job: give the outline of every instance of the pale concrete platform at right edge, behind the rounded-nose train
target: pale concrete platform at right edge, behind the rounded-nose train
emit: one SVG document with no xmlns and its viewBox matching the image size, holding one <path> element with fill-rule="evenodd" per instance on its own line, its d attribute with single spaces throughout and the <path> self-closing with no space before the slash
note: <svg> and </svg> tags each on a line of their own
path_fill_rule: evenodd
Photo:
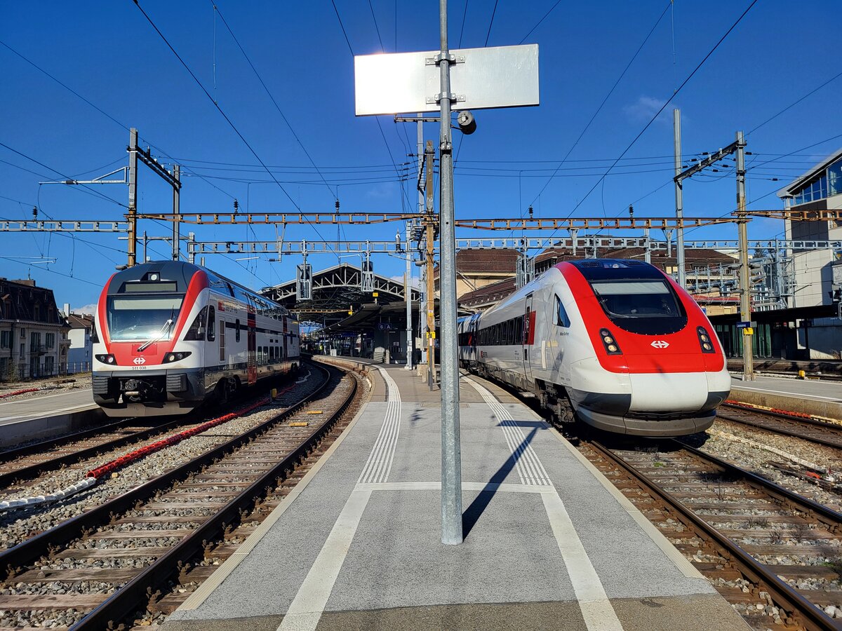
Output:
<svg viewBox="0 0 842 631">
<path fill-rule="evenodd" d="M 838 381 L 766 376 L 743 381 L 733 377 L 730 398 L 842 420 L 842 384 Z"/>
</svg>

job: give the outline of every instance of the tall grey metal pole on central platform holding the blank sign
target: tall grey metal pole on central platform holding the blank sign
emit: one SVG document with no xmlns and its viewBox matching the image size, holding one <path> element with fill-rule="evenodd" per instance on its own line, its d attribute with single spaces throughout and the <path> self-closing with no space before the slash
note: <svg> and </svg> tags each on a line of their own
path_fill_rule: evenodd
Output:
<svg viewBox="0 0 842 631">
<path fill-rule="evenodd" d="M 453 210 L 453 142 L 450 137 L 450 51 L 447 0 L 439 0 L 441 54 L 439 144 L 441 337 L 441 543 L 461 544 L 462 475 L 459 445 L 459 367 L 456 365 L 456 231 Z"/>
</svg>

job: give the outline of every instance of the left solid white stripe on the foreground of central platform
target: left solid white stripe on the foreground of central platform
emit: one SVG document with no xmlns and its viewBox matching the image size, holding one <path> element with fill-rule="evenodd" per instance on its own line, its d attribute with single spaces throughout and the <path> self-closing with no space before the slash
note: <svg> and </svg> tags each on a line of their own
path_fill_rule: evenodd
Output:
<svg viewBox="0 0 842 631">
<path fill-rule="evenodd" d="M 316 557 L 306 579 L 298 588 L 278 631 L 314 631 L 328 604 L 333 584 L 345 562 L 354 534 L 360 525 L 371 496 L 370 490 L 353 490 L 339 518 L 333 524 L 328 540 Z"/>
</svg>

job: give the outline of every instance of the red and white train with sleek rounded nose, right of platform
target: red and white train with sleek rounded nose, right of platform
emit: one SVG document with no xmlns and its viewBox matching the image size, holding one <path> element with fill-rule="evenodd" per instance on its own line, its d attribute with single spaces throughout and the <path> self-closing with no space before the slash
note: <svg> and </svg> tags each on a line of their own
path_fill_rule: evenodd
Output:
<svg viewBox="0 0 842 631">
<path fill-rule="evenodd" d="M 609 432 L 701 432 L 731 390 L 706 315 L 642 261 L 559 263 L 492 309 L 462 318 L 459 334 L 463 367 Z"/>
</svg>

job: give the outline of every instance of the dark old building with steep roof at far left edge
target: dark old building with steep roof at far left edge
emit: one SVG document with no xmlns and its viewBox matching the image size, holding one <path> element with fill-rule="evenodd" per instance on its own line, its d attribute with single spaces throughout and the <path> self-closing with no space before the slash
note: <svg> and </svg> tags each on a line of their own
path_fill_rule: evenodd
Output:
<svg viewBox="0 0 842 631">
<path fill-rule="evenodd" d="M 0 278 L 0 380 L 59 374 L 67 363 L 68 330 L 52 289 Z"/>
</svg>

